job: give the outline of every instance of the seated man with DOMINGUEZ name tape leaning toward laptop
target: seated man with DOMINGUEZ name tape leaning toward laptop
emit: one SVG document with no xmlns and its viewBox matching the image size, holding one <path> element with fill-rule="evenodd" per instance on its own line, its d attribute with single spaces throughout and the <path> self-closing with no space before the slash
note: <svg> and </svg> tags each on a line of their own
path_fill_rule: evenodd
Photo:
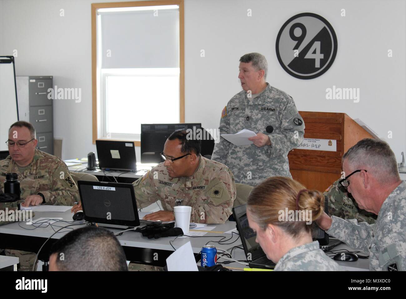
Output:
<svg viewBox="0 0 406 299">
<path fill-rule="evenodd" d="M 145 220 L 175 220 L 173 207 L 192 207 L 190 222 L 225 223 L 232 214 L 235 181 L 231 170 L 200 155 L 201 142 L 175 131 L 164 145 L 164 162 L 133 183 L 138 207 L 160 201 L 163 211 L 148 214 Z M 73 212 L 81 205 L 72 208 Z M 130 270 L 160 270 L 159 267 L 131 263 Z"/>
</svg>

